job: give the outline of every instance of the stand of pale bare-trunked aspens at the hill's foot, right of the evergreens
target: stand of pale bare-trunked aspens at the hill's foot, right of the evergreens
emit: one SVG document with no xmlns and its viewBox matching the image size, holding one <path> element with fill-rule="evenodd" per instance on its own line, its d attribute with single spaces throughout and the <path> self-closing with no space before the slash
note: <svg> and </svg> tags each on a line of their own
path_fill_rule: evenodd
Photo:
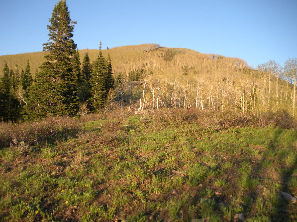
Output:
<svg viewBox="0 0 297 222">
<path fill-rule="evenodd" d="M 219 68 L 191 76 L 187 71 L 168 77 L 143 69 L 116 73 L 117 105 L 130 106 L 131 100 L 138 100 L 134 105 L 138 110 L 166 107 L 245 113 L 284 109 L 295 115 L 296 68 L 297 58 L 290 58 L 283 67 L 273 60 L 256 70 L 243 67 L 240 76 Z M 141 94 L 133 90 L 134 81 Z"/>
</svg>

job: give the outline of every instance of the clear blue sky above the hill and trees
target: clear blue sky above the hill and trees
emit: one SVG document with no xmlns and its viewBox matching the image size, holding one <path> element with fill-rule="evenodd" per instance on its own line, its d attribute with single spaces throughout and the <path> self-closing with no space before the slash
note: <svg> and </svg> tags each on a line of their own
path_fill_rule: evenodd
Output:
<svg viewBox="0 0 297 222">
<path fill-rule="evenodd" d="M 42 51 L 57 0 L 0 7 L 0 55 Z M 251 66 L 297 57 L 297 0 L 68 0 L 78 49 L 157 43 L 238 57 Z"/>
</svg>

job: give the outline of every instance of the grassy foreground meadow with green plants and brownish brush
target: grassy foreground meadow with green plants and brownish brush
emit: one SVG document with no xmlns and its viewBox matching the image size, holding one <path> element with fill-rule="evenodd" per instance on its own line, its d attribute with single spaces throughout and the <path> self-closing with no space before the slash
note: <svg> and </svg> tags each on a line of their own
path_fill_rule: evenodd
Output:
<svg viewBox="0 0 297 222">
<path fill-rule="evenodd" d="M 0 219 L 295 221 L 296 127 L 194 109 L 2 123 Z"/>
</svg>

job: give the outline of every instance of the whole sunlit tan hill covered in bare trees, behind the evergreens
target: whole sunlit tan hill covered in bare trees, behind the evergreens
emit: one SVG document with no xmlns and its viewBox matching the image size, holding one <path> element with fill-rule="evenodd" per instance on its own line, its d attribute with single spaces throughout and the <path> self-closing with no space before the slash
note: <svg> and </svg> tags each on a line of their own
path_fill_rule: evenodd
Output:
<svg viewBox="0 0 297 222">
<path fill-rule="evenodd" d="M 27 59 L 31 70 L 44 61 L 44 52 L 0 56 L 12 68 L 24 69 Z M 82 61 L 84 50 L 79 51 Z M 90 61 L 98 50 L 88 50 Z M 201 110 L 254 111 L 286 109 L 292 111 L 292 86 L 271 73 L 249 69 L 239 58 L 202 54 L 189 49 L 160 47 L 157 44 L 116 47 L 103 50 L 110 54 L 115 78 L 124 78 L 117 85 L 113 101 L 121 97 L 124 105 L 143 108 L 183 107 Z M 141 74 L 138 84 L 132 84 L 132 73 Z M 137 86 L 137 87 L 134 87 Z M 142 89 L 141 89 L 142 88 Z M 122 99 L 123 98 L 123 99 Z M 119 101 L 118 101 L 119 105 Z"/>
</svg>

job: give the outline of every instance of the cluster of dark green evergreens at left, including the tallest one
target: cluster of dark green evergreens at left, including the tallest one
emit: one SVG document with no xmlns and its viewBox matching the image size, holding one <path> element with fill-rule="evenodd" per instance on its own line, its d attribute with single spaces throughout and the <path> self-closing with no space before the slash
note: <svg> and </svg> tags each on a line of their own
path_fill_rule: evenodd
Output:
<svg viewBox="0 0 297 222">
<path fill-rule="evenodd" d="M 100 51 L 90 64 L 86 50 L 82 64 L 66 1 L 55 5 L 49 20 L 49 42 L 43 44 L 46 61 L 33 81 L 29 61 L 25 72 L 9 71 L 7 63 L 0 82 L 0 118 L 3 121 L 32 120 L 52 115 L 73 116 L 104 107 L 114 87 L 110 56 Z M 82 66 L 81 66 L 82 65 Z"/>
</svg>

